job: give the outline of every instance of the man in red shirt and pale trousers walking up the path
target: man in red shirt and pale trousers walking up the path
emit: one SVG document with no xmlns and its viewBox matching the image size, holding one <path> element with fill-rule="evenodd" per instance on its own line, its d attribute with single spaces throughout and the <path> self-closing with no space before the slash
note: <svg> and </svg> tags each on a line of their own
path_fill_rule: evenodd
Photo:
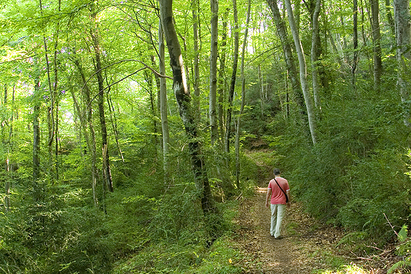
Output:
<svg viewBox="0 0 411 274">
<path fill-rule="evenodd" d="M 271 206 L 270 234 L 275 239 L 282 239 L 281 224 L 287 208 L 290 207 L 290 187 L 288 181 L 281 177 L 279 169 L 274 169 L 274 179 L 271 179 L 267 187 L 266 208 Z"/>
</svg>

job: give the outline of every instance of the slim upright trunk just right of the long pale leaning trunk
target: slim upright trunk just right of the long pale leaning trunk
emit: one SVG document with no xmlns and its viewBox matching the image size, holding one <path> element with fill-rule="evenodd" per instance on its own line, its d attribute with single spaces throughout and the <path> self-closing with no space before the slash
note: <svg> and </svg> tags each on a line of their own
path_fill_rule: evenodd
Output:
<svg viewBox="0 0 411 274">
<path fill-rule="evenodd" d="M 321 109 L 319 69 L 317 66 L 319 39 L 319 14 L 321 10 L 321 0 L 316 0 L 315 9 L 312 14 L 312 42 L 311 42 L 311 67 L 312 67 L 312 93 L 314 94 L 314 104 L 317 112 Z"/>
</svg>

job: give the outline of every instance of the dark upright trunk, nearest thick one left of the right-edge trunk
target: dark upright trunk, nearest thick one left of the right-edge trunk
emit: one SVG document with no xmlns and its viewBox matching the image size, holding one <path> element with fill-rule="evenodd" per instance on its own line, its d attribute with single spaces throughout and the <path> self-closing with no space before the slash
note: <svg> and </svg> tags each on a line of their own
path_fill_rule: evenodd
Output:
<svg viewBox="0 0 411 274">
<path fill-rule="evenodd" d="M 379 29 L 379 0 L 371 1 L 371 14 L 373 25 L 373 52 L 374 52 L 374 90 L 380 91 L 382 60 L 381 60 L 381 32 Z"/>
</svg>

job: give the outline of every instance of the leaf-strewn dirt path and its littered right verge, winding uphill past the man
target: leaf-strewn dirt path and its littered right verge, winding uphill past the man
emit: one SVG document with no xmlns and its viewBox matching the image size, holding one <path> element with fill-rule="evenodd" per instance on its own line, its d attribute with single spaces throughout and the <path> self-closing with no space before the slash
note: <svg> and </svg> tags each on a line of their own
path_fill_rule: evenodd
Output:
<svg viewBox="0 0 411 274">
<path fill-rule="evenodd" d="M 233 246 L 244 256 L 238 261 L 243 273 L 385 274 L 407 270 L 410 242 L 406 227 L 395 231 L 386 219 L 392 240 L 375 242 L 371 232 L 356 232 L 311 216 L 303 200 L 295 197 L 283 223 L 284 238 L 269 234 L 270 210 L 265 208 L 271 168 L 267 151 L 249 151 L 259 166 L 259 179 L 251 197 L 241 197 Z M 291 180 L 292 181 L 292 180 Z M 290 182 L 292 189 L 292 182 Z M 401 235 L 402 233 L 402 235 Z M 241 256 L 240 256 L 241 258 Z M 402 271 L 402 272 L 401 272 Z M 408 272 L 407 272 L 408 271 Z"/>
</svg>

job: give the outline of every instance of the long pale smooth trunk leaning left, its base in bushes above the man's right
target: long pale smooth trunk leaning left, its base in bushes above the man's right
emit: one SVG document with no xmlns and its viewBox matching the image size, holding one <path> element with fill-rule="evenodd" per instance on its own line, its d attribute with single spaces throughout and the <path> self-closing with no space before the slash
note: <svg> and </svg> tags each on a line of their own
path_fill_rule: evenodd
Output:
<svg viewBox="0 0 411 274">
<path fill-rule="evenodd" d="M 290 23 L 290 29 L 292 32 L 292 37 L 294 38 L 295 48 L 297 49 L 297 55 L 299 60 L 299 71 L 300 71 L 300 82 L 301 88 L 303 90 L 304 100 L 306 101 L 307 114 L 308 114 L 308 125 L 310 126 L 312 143 L 316 144 L 316 119 L 314 105 L 312 104 L 312 99 L 310 91 L 308 90 L 307 81 L 307 66 L 306 58 L 304 57 L 303 47 L 301 45 L 301 40 L 299 38 L 298 29 L 295 25 L 294 15 L 292 14 L 292 6 L 290 0 L 286 0 L 286 8 L 288 14 L 288 22 Z"/>
</svg>

